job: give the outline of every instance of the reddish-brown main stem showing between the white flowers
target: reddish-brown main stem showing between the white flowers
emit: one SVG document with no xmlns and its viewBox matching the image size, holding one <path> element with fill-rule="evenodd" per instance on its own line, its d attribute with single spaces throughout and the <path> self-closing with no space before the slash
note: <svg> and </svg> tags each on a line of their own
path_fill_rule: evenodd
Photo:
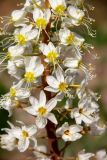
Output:
<svg viewBox="0 0 107 160">
<path fill-rule="evenodd" d="M 45 8 L 49 8 L 48 0 L 45 0 Z M 51 25 L 51 22 L 46 27 L 47 33 L 50 32 L 50 25 Z M 47 36 L 46 32 L 43 31 L 43 38 L 44 38 L 43 42 L 48 44 L 49 37 Z M 44 59 L 43 59 L 43 63 L 45 65 Z M 49 66 L 46 65 L 45 72 L 44 72 L 44 75 L 42 78 L 42 82 L 43 82 L 44 87 L 47 86 L 46 76 L 48 76 L 49 73 L 50 73 Z M 46 92 L 46 96 L 47 96 L 48 100 L 51 99 L 51 93 Z M 60 151 L 58 149 L 58 142 L 57 142 L 57 137 L 55 134 L 56 127 L 52 122 L 48 121 L 48 123 L 46 125 L 46 130 L 47 130 L 47 136 L 48 136 L 48 144 L 49 144 L 50 153 L 51 153 L 51 159 L 52 160 L 59 160 Z"/>
</svg>

